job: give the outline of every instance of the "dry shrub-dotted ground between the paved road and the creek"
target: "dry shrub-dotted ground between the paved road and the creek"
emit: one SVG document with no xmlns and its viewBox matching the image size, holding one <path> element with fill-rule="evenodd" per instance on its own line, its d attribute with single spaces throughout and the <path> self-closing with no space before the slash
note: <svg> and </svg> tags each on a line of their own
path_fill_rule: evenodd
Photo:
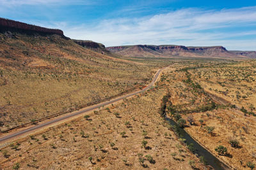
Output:
<svg viewBox="0 0 256 170">
<path fill-rule="evenodd" d="M 6 159 L 1 155 L 0 166 L 12 169 L 19 163 L 21 169 L 144 169 L 144 164 L 150 169 L 192 169 L 189 160 L 193 160 L 193 166 L 203 169 L 157 113 L 165 94 L 166 89 L 152 89 L 87 114 L 90 117 L 20 139 L 18 150 L 12 146 L 2 149 L 10 156 Z M 147 141 L 146 147 L 142 141 Z M 145 159 L 143 164 L 141 159 Z"/>
</svg>

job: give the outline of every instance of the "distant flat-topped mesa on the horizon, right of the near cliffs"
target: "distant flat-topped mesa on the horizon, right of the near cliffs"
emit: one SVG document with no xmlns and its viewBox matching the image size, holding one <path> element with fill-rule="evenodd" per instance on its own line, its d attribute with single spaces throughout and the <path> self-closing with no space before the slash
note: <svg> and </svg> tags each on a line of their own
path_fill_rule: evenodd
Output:
<svg viewBox="0 0 256 170">
<path fill-rule="evenodd" d="M 196 58 L 253 58 L 255 53 L 234 53 L 223 46 L 181 46 L 181 45 L 133 45 L 110 46 L 110 52 L 124 55 L 125 57 L 196 57 Z"/>
</svg>

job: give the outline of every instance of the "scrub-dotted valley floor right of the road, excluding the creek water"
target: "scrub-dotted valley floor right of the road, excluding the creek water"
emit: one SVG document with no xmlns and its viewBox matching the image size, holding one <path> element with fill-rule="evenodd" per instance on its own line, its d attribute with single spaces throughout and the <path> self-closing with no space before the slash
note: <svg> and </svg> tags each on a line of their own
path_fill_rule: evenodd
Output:
<svg viewBox="0 0 256 170">
<path fill-rule="evenodd" d="M 143 94 L 5 146 L 1 149 L 0 166 L 2 169 L 209 168 L 203 164 L 204 159 L 193 154 L 195 148 L 184 143 L 175 127 L 164 121 L 161 114 L 166 113 L 230 167 L 250 169 L 256 163 L 252 107 L 255 92 L 250 90 L 255 87 L 252 73 L 256 70 L 255 61 L 246 62 L 252 72 L 243 73 L 245 79 L 234 82 L 219 74 L 239 79 L 245 62 L 176 62 L 163 71 L 154 88 Z M 227 67 L 234 72 L 226 74 Z M 225 78 L 225 83 L 221 78 Z M 234 96 L 235 87 L 228 87 L 232 82 L 238 91 L 235 93 L 246 97 Z M 223 94 L 218 85 L 227 87 L 227 93 Z M 217 98 L 212 98 L 210 92 Z M 218 97 L 223 97 L 225 103 L 218 101 Z M 232 140 L 239 145 L 232 147 Z M 216 152 L 218 146 L 227 148 L 227 153 Z"/>
</svg>

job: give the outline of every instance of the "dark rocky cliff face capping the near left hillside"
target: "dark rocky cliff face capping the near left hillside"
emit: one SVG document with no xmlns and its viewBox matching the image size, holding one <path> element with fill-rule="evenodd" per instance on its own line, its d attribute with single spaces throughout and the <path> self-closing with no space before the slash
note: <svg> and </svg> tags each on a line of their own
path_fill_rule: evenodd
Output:
<svg viewBox="0 0 256 170">
<path fill-rule="evenodd" d="M 66 38 L 63 34 L 63 31 L 61 31 L 60 29 L 47 29 L 44 27 L 30 25 L 23 22 L 8 20 L 5 18 L 0 18 L 0 31 L 21 32 L 26 34 L 57 34 L 63 38 Z"/>
</svg>

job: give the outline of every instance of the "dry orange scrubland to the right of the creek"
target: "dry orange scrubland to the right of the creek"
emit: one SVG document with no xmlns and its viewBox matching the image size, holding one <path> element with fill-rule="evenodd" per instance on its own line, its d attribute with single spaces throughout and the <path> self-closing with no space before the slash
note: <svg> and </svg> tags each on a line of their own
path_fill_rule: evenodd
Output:
<svg viewBox="0 0 256 170">
<path fill-rule="evenodd" d="M 253 168 L 255 60 L 176 67 L 159 81 L 170 91 L 167 115 L 230 167 Z"/>
</svg>

